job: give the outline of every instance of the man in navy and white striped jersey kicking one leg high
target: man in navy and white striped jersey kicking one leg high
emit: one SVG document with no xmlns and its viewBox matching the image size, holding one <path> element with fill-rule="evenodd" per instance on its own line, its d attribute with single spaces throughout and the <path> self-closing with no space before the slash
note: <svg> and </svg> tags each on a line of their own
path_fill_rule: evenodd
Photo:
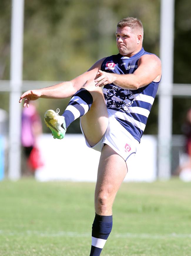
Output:
<svg viewBox="0 0 191 256">
<path fill-rule="evenodd" d="M 100 255 L 111 232 L 113 201 L 140 143 L 161 79 L 160 59 L 142 47 L 139 19 L 118 22 L 116 42 L 117 55 L 97 61 L 71 81 L 29 90 L 19 100 L 28 107 L 30 100 L 72 96 L 63 115 L 46 111 L 46 125 L 54 138 L 62 139 L 67 127 L 81 117 L 87 146 L 101 152 L 90 256 Z"/>
</svg>

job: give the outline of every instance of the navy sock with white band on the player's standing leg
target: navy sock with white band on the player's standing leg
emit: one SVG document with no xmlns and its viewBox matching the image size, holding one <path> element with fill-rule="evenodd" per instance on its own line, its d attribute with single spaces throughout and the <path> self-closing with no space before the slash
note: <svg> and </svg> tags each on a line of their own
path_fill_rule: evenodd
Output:
<svg viewBox="0 0 191 256">
<path fill-rule="evenodd" d="M 92 225 L 92 246 L 90 256 L 99 256 L 112 229 L 112 215 L 96 214 Z"/>
</svg>

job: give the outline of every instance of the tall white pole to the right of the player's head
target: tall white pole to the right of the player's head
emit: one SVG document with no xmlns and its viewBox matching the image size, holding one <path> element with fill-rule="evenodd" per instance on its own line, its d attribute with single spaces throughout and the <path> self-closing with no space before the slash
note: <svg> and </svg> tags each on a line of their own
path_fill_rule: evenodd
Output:
<svg viewBox="0 0 191 256">
<path fill-rule="evenodd" d="M 161 0 L 160 59 L 162 81 L 158 117 L 158 177 L 171 176 L 172 85 L 174 53 L 174 0 Z"/>
</svg>

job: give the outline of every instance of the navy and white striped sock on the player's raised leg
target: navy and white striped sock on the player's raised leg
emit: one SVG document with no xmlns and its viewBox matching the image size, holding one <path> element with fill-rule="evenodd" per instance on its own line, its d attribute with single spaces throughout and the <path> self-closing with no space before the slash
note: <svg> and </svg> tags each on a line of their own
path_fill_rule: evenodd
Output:
<svg viewBox="0 0 191 256">
<path fill-rule="evenodd" d="M 85 115 L 93 103 L 93 97 L 86 89 L 81 88 L 72 97 L 63 116 L 66 128 L 78 117 Z"/>
</svg>

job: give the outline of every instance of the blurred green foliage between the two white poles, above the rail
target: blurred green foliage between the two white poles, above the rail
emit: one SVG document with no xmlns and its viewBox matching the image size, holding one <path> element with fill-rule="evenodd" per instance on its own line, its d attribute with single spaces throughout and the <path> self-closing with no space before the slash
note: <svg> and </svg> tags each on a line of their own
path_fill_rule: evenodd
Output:
<svg viewBox="0 0 191 256">
<path fill-rule="evenodd" d="M 143 20 L 145 47 L 158 53 L 159 9 L 151 0 L 26 1 L 24 80 L 68 80 L 117 53 L 116 23 L 127 16 Z"/>
</svg>

